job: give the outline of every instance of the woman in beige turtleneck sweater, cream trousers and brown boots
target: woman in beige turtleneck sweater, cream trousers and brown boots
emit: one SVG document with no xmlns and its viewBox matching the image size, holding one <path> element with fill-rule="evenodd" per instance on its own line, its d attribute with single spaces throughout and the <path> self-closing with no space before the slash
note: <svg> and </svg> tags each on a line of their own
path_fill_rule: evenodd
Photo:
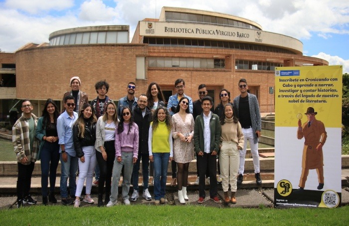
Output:
<svg viewBox="0 0 349 226">
<path fill-rule="evenodd" d="M 244 135 L 241 125 L 234 114 L 233 106 L 228 103 L 224 105 L 224 114 L 220 117 L 222 132 L 220 136 L 221 148 L 219 152 L 220 173 L 222 177 L 222 188 L 224 192 L 224 203 L 236 204 L 235 192 L 237 189 L 237 175 L 239 170 L 239 150 L 244 146 Z M 228 189 L 230 184 L 231 199 Z"/>
</svg>

